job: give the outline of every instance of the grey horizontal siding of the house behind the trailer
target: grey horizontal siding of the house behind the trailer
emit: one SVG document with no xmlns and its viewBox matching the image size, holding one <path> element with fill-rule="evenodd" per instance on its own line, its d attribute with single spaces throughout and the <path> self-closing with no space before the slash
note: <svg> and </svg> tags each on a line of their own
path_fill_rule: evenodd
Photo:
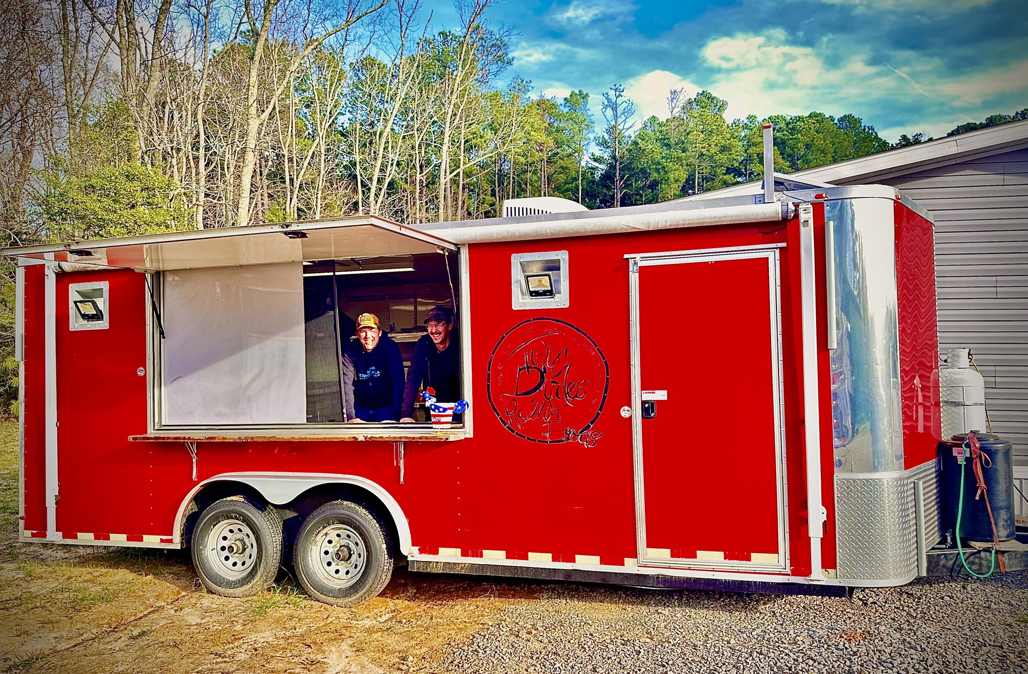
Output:
<svg viewBox="0 0 1028 674">
<path fill-rule="evenodd" d="M 970 348 L 993 432 L 1028 462 L 1028 149 L 882 182 L 931 212 L 940 351 Z"/>
</svg>

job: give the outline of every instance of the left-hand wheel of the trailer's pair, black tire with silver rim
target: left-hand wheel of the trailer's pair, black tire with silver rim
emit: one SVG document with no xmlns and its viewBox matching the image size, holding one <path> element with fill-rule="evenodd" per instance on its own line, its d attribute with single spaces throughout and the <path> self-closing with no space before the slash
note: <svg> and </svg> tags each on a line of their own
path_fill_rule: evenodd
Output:
<svg viewBox="0 0 1028 674">
<path fill-rule="evenodd" d="M 208 590 L 249 597 L 274 580 L 282 564 L 282 520 L 246 496 L 229 496 L 204 510 L 192 534 L 192 561 Z"/>
</svg>

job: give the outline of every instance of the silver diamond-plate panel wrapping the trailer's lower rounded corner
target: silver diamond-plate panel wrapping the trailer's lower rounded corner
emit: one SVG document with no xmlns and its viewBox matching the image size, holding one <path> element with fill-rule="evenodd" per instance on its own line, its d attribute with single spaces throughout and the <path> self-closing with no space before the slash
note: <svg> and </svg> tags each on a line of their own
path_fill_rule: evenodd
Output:
<svg viewBox="0 0 1028 674">
<path fill-rule="evenodd" d="M 914 483 L 904 474 L 836 475 L 839 577 L 906 582 L 917 576 Z"/>
</svg>

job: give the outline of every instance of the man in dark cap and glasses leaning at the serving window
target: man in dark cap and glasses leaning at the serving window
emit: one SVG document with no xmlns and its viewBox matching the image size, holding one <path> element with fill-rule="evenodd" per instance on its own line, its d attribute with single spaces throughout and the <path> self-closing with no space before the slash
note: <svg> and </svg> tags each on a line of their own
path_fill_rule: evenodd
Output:
<svg viewBox="0 0 1028 674">
<path fill-rule="evenodd" d="M 400 421 L 414 421 L 414 399 L 420 388 L 432 387 L 436 400 L 456 402 L 461 398 L 461 344 L 453 331 L 453 310 L 433 307 L 425 319 L 429 333 L 414 345 L 403 389 Z M 453 416 L 460 423 L 460 415 Z"/>
</svg>

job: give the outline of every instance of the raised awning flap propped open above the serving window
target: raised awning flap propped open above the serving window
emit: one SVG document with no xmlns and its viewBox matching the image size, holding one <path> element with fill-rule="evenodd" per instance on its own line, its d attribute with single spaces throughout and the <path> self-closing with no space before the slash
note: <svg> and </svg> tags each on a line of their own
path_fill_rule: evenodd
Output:
<svg viewBox="0 0 1028 674">
<path fill-rule="evenodd" d="M 52 254 L 59 262 L 167 272 L 455 249 L 453 243 L 431 234 L 377 217 L 355 216 L 19 246 L 0 252 L 36 259 L 51 259 Z"/>
</svg>

